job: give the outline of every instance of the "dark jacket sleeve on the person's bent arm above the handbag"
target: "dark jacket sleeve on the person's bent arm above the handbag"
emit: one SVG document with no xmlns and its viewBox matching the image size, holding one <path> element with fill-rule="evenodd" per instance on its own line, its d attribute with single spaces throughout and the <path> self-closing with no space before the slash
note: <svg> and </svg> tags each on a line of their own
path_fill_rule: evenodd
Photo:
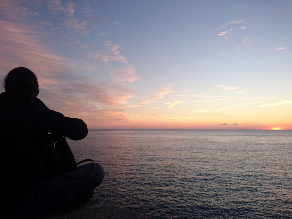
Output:
<svg viewBox="0 0 292 219">
<path fill-rule="evenodd" d="M 33 101 L 30 107 L 33 128 L 58 133 L 71 140 L 81 140 L 88 129 L 82 119 L 65 117 L 62 113 L 46 107 L 41 101 Z"/>
</svg>

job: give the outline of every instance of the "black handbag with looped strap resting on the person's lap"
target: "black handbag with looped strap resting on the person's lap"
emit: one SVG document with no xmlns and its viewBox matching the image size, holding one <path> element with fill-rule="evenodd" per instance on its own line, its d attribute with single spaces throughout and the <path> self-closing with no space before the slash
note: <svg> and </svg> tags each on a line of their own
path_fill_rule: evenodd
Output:
<svg viewBox="0 0 292 219">
<path fill-rule="evenodd" d="M 78 164 L 86 161 L 91 161 L 93 163 L 92 169 L 89 173 L 80 177 L 70 177 L 65 174 L 76 170 Z M 85 178 L 93 172 L 94 161 L 91 159 L 84 159 L 76 163 L 66 138 L 62 135 L 51 133 L 46 136 L 41 150 L 41 166 L 44 178 L 46 179 L 63 175 L 66 178 L 77 180 Z"/>
</svg>

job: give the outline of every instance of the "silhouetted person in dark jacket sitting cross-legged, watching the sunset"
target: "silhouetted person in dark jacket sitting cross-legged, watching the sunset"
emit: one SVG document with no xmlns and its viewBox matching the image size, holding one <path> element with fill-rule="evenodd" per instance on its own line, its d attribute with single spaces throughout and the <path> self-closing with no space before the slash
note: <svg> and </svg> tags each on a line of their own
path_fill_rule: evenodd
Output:
<svg viewBox="0 0 292 219">
<path fill-rule="evenodd" d="M 4 78 L 4 88 L 6 92 L 0 94 L 1 216 L 31 218 L 88 201 L 102 182 L 102 166 L 95 164 L 94 171 L 79 180 L 62 175 L 45 180 L 35 154 L 47 133 L 80 140 L 87 135 L 86 124 L 64 117 L 36 98 L 36 75 L 25 67 L 12 69 Z M 82 176 L 91 168 L 92 164 L 85 164 L 67 175 Z"/>
</svg>

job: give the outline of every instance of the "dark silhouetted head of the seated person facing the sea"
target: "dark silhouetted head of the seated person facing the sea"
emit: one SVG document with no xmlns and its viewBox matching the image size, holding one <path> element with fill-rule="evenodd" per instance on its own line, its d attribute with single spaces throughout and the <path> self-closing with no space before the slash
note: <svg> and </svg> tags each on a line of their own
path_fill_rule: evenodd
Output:
<svg viewBox="0 0 292 219">
<path fill-rule="evenodd" d="M 12 69 L 4 78 L 4 89 L 13 93 L 21 104 L 32 101 L 39 94 L 36 75 L 25 67 Z"/>
</svg>

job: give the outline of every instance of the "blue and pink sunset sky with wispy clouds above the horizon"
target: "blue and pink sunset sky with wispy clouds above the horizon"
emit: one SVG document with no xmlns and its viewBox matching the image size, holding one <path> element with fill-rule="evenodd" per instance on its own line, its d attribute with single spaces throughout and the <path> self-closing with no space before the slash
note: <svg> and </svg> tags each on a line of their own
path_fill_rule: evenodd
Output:
<svg viewBox="0 0 292 219">
<path fill-rule="evenodd" d="M 292 1 L 0 1 L 0 76 L 88 128 L 292 129 Z M 4 88 L 1 88 L 1 92 Z"/>
</svg>

